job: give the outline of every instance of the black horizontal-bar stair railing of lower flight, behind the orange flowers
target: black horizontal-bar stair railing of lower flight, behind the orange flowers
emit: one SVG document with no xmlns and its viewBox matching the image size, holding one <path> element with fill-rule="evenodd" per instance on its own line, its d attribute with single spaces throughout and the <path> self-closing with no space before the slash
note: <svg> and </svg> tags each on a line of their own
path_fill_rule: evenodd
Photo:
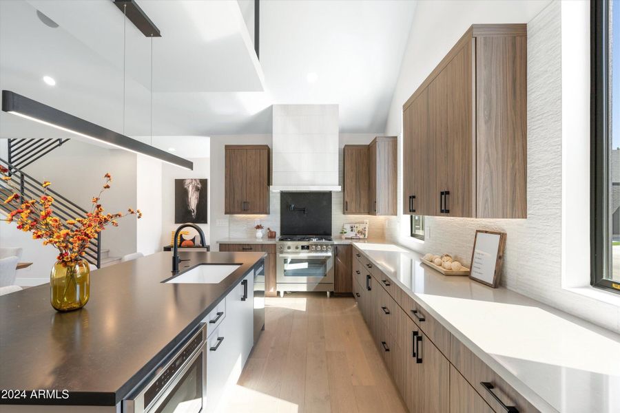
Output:
<svg viewBox="0 0 620 413">
<path fill-rule="evenodd" d="M 28 173 L 23 172 L 1 158 L 0 165 L 9 170 L 8 176 L 11 177 L 11 182 L 13 182 L 14 186 L 19 188 L 19 195 L 22 199 L 38 199 L 43 195 L 45 191 L 42 186 L 43 182 L 32 178 Z M 70 229 L 70 226 L 65 223 L 67 220 L 83 217 L 89 212 L 49 187 L 46 192 L 54 198 L 54 214 L 63 221 L 63 225 L 67 229 Z M 6 199 L 11 193 L 12 189 L 8 181 L 0 180 L 0 195 L 2 195 L 2 198 Z M 0 200 L 0 209 L 10 213 L 17 209 L 17 204 L 5 204 Z M 90 264 L 101 268 L 101 233 L 97 234 L 95 239 L 90 240 L 86 247 L 84 258 Z"/>
</svg>

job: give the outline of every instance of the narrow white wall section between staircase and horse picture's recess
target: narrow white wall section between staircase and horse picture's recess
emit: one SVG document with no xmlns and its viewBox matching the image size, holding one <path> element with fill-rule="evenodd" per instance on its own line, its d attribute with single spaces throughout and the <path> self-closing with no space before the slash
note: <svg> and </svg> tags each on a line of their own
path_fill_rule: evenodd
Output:
<svg viewBox="0 0 620 413">
<path fill-rule="evenodd" d="M 143 213 L 136 228 L 136 251 L 149 255 L 161 251 L 162 208 L 169 198 L 162 196 L 163 162 L 143 155 L 136 161 L 136 208 Z"/>
</svg>

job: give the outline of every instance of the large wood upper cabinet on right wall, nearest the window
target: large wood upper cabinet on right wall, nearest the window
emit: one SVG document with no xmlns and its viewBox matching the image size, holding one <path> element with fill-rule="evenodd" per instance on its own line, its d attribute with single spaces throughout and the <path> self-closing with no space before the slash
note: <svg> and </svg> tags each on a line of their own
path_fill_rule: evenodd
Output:
<svg viewBox="0 0 620 413">
<path fill-rule="evenodd" d="M 471 26 L 404 104 L 404 213 L 526 218 L 526 35 Z"/>
</svg>

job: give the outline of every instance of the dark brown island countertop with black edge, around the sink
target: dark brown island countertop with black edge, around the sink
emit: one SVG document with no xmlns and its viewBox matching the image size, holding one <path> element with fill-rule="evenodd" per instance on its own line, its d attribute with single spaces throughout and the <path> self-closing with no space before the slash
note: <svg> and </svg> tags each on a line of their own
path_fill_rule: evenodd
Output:
<svg viewBox="0 0 620 413">
<path fill-rule="evenodd" d="M 68 390 L 68 399 L 0 404 L 116 405 L 192 332 L 265 253 L 179 253 L 180 272 L 241 264 L 219 284 L 165 284 L 172 253 L 91 274 L 84 308 L 59 313 L 48 284 L 0 297 L 0 390 Z"/>
</svg>

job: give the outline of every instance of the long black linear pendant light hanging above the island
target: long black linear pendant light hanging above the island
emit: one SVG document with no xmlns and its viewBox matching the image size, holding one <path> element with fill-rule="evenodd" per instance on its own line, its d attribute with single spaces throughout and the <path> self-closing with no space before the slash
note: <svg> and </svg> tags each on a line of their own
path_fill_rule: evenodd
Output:
<svg viewBox="0 0 620 413">
<path fill-rule="evenodd" d="M 98 140 L 120 149 L 141 153 L 151 158 L 156 158 L 178 167 L 194 169 L 194 163 L 172 153 L 162 151 L 144 142 L 130 138 L 129 136 L 118 134 L 105 127 L 95 125 L 87 120 L 78 118 L 54 107 L 37 102 L 21 94 L 2 91 L 2 110 L 10 114 L 21 116 L 22 118 L 34 120 L 43 125 L 49 125 L 62 131 Z"/>
</svg>

